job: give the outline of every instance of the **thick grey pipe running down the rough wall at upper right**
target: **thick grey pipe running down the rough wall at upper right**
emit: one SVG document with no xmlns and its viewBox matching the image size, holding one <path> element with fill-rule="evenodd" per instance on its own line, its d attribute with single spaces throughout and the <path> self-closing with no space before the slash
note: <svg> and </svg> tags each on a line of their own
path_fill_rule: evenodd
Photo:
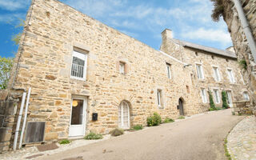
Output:
<svg viewBox="0 0 256 160">
<path fill-rule="evenodd" d="M 243 31 L 246 34 L 246 38 L 250 47 L 250 51 L 253 54 L 254 62 L 256 62 L 256 44 L 254 42 L 253 34 L 250 31 L 250 26 L 247 22 L 247 18 L 245 13 L 243 12 L 241 2 L 239 0 L 233 0 L 234 6 L 238 10 L 238 17 L 240 18 L 240 21 L 242 23 Z"/>
</svg>

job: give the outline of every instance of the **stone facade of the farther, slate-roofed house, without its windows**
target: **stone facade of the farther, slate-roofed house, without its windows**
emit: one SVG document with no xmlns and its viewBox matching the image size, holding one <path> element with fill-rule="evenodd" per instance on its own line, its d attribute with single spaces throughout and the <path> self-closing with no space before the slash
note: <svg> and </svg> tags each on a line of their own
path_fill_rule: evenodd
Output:
<svg viewBox="0 0 256 160">
<path fill-rule="evenodd" d="M 200 90 L 202 88 L 211 91 L 213 91 L 214 89 L 218 89 L 221 98 L 222 90 L 230 90 L 233 102 L 243 101 L 242 93 L 246 91 L 246 85 L 242 78 L 241 66 L 239 66 L 236 58 L 219 56 L 217 54 L 203 52 L 202 50 L 195 50 L 193 48 L 183 47 L 174 43 L 172 41 L 172 38 L 166 36 L 166 34 L 163 34 L 162 36 L 163 38 L 161 50 L 166 52 L 167 54 L 174 56 L 175 58 L 179 58 L 179 60 L 181 60 L 182 62 L 191 65 L 187 67 L 190 68 L 189 70 L 192 73 L 195 88 L 194 91 L 200 94 Z M 195 66 L 196 63 L 202 63 L 203 73 L 205 77 L 203 80 L 198 79 Z M 214 80 L 213 66 L 217 66 L 219 69 L 221 77 L 220 82 L 216 82 Z M 234 83 L 230 82 L 227 74 L 228 68 L 232 69 L 234 72 Z M 208 94 L 207 99 L 209 102 Z M 206 106 L 209 106 L 209 103 L 202 103 L 202 98 L 198 98 L 198 100 L 200 103 L 199 106 L 201 106 L 202 109 L 206 109 Z M 218 104 L 215 103 L 215 106 L 222 107 L 222 100 Z"/>
</svg>

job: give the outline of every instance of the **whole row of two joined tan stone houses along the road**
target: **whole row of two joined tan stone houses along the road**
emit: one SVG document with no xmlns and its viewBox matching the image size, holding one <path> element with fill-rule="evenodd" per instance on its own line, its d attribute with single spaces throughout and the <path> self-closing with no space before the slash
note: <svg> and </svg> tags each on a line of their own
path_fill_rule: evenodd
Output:
<svg viewBox="0 0 256 160">
<path fill-rule="evenodd" d="M 246 94 L 230 50 L 179 41 L 171 30 L 154 50 L 56 0 L 32 2 L 9 87 L 32 88 L 26 133 L 44 122 L 44 142 L 146 125 L 154 112 L 202 113 L 208 90 L 220 107 L 222 90 L 230 107 Z"/>
</svg>

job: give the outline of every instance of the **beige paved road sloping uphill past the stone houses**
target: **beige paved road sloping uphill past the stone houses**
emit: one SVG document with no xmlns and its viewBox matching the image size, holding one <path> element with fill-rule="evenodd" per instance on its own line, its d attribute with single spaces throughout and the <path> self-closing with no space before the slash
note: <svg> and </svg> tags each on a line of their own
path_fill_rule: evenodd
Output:
<svg viewBox="0 0 256 160">
<path fill-rule="evenodd" d="M 41 159 L 225 160 L 223 139 L 242 118 L 230 110 L 210 112 Z"/>
</svg>

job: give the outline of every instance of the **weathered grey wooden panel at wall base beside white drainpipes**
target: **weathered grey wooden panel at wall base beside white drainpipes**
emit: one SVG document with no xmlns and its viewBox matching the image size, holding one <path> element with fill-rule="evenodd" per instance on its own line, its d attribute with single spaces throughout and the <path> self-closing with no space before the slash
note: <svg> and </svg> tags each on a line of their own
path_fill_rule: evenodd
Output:
<svg viewBox="0 0 256 160">
<path fill-rule="evenodd" d="M 45 134 L 46 122 L 28 122 L 25 143 L 42 142 Z"/>
</svg>

